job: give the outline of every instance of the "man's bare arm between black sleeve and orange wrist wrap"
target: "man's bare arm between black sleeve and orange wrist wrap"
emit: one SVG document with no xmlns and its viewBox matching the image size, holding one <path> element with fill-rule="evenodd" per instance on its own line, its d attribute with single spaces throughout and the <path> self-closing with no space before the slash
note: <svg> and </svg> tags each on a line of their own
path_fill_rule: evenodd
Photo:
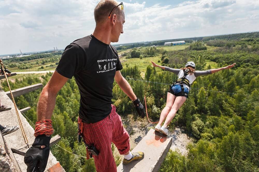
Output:
<svg viewBox="0 0 259 172">
<path fill-rule="evenodd" d="M 37 106 L 38 121 L 51 119 L 55 104 L 56 96 L 59 90 L 67 82 L 68 78 L 60 75 L 55 71 L 49 82 L 42 89 Z"/>
</svg>

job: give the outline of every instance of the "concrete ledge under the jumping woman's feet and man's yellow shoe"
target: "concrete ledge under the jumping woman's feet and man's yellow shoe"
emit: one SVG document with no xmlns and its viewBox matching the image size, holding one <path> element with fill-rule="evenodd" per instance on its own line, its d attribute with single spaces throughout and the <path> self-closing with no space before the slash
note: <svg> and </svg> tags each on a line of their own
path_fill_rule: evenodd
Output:
<svg viewBox="0 0 259 172">
<path fill-rule="evenodd" d="M 131 152 L 144 152 L 144 158 L 133 161 L 128 165 L 117 167 L 118 172 L 155 172 L 158 171 L 167 152 L 172 145 L 172 138 L 155 135 L 155 130 L 150 129 L 147 135 L 137 144 Z"/>
</svg>

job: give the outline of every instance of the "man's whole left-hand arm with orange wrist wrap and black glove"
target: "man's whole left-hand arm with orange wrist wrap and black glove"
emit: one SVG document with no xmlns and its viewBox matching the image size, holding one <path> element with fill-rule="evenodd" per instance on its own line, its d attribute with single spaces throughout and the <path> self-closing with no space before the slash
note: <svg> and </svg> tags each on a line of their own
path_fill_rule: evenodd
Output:
<svg viewBox="0 0 259 172">
<path fill-rule="evenodd" d="M 55 107 L 56 95 L 67 80 L 68 78 L 55 71 L 42 89 L 37 107 L 38 122 L 35 124 L 34 132 L 36 138 L 24 156 L 27 171 L 43 172 L 47 166 L 51 139 L 49 136 L 53 133 L 50 119 Z"/>
</svg>

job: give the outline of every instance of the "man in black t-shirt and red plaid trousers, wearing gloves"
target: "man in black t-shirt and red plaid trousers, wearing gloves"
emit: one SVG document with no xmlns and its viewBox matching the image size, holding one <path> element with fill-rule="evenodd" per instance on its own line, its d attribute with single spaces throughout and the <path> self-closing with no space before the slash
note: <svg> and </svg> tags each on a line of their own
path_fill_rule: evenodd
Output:
<svg viewBox="0 0 259 172">
<path fill-rule="evenodd" d="M 56 71 L 43 88 L 38 102 L 38 122 L 32 147 L 26 152 L 27 171 L 44 171 L 49 154 L 50 134 L 53 133 L 51 116 L 55 107 L 57 92 L 68 79 L 75 77 L 80 91 L 78 133 L 87 145 L 95 146 L 99 155 L 94 155 L 97 171 L 117 171 L 112 155 L 111 142 L 126 165 L 144 157 L 143 152 L 131 153 L 129 135 L 124 129 L 116 108 L 112 105 L 114 79 L 130 97 L 139 115 L 145 111 L 135 96 L 130 84 L 121 75 L 123 68 L 116 49 L 110 45 L 118 42 L 123 33 L 125 15 L 123 3 L 114 0 L 100 1 L 94 10 L 96 28 L 93 34 L 75 40 L 63 52 Z M 40 133 L 40 135 L 39 135 Z M 98 153 L 97 153 L 98 154 Z"/>
</svg>

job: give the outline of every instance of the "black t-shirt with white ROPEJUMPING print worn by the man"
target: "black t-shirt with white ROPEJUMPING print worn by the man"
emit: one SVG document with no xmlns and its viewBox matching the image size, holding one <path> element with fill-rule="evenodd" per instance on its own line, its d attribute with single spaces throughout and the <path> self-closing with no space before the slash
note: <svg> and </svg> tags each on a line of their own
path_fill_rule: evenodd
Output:
<svg viewBox="0 0 259 172">
<path fill-rule="evenodd" d="M 110 114 L 114 76 L 122 68 L 117 50 L 93 35 L 65 48 L 56 71 L 70 79 L 75 77 L 83 122 L 95 123 Z"/>
</svg>

